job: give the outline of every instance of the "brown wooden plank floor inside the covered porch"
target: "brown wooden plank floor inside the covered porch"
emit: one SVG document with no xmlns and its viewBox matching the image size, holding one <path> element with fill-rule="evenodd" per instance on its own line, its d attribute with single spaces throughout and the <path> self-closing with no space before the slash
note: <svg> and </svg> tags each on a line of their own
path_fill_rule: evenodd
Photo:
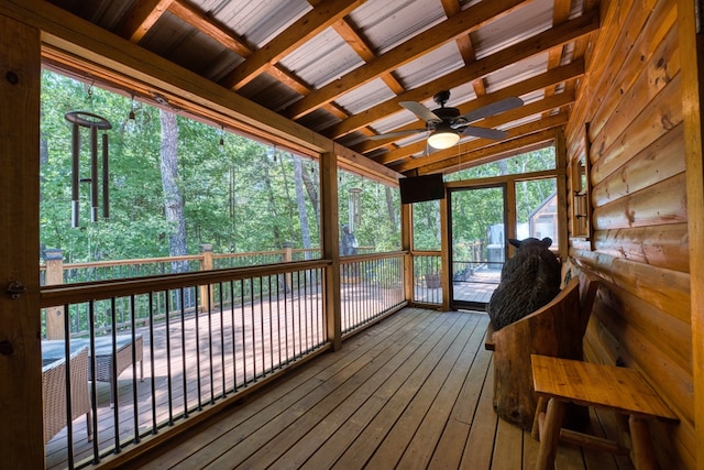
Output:
<svg viewBox="0 0 704 470">
<path fill-rule="evenodd" d="M 406 308 L 128 467 L 534 468 L 538 444 L 492 408 L 486 324 L 485 314 Z M 566 446 L 557 463 L 632 468 Z"/>
</svg>

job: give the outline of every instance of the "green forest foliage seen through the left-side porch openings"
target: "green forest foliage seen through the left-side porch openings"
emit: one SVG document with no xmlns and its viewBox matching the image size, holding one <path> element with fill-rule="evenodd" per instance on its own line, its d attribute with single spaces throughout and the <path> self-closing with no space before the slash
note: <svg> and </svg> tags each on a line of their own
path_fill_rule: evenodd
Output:
<svg viewBox="0 0 704 470">
<path fill-rule="evenodd" d="M 42 165 L 40 231 L 43 248 L 61 248 L 68 262 L 168 255 L 172 228 L 164 216 L 158 109 L 45 70 L 42 81 Z M 134 110 L 134 121 L 129 120 Z M 70 110 L 99 114 L 112 123 L 110 218 L 90 221 L 90 185 L 80 185 L 80 227 L 70 226 Z M 294 162 L 319 195 L 318 163 L 178 116 L 178 186 L 184 197 L 188 253 L 211 243 L 216 253 L 319 247 L 319 208 L 309 194 L 296 197 Z M 89 130 L 81 129 L 80 177 L 90 176 Z M 221 144 L 222 143 L 222 144 Z M 360 245 L 377 251 L 400 248 L 398 192 L 342 172 L 340 219 L 348 220 L 348 192 L 359 187 Z M 343 196 L 342 196 L 343 195 Z M 298 204 L 309 221 L 312 247 L 305 247 Z M 316 201 L 317 204 L 317 201 Z M 342 222 L 341 222 L 342 223 Z"/>
</svg>

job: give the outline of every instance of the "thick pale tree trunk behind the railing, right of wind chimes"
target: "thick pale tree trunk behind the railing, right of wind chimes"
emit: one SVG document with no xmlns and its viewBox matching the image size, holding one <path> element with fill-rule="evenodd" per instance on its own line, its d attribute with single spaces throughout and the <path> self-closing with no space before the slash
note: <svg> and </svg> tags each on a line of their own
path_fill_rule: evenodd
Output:
<svg viewBox="0 0 704 470">
<path fill-rule="evenodd" d="M 160 110 L 162 123 L 161 171 L 164 188 L 164 212 L 170 227 L 168 234 L 168 254 L 180 256 L 187 254 L 186 220 L 184 218 L 184 198 L 178 187 L 178 124 L 176 114 Z M 176 272 L 188 270 L 187 263 L 173 263 Z"/>
</svg>

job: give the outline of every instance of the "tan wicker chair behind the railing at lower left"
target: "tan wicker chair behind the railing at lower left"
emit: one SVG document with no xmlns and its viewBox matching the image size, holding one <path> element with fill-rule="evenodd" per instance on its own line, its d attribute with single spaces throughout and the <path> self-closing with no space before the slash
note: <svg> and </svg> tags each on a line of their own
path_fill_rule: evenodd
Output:
<svg viewBox="0 0 704 470">
<path fill-rule="evenodd" d="M 88 395 L 88 348 L 81 348 L 69 357 L 70 413 L 73 422 L 86 415 L 88 440 L 92 440 L 90 397 Z M 42 369 L 44 397 L 44 442 L 48 442 L 67 426 L 66 360 L 58 359 Z"/>
</svg>

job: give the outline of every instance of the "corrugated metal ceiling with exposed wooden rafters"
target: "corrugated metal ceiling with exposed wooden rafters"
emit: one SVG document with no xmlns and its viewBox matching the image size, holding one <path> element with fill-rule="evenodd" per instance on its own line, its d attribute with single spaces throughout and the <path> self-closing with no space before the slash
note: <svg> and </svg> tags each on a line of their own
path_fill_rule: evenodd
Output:
<svg viewBox="0 0 704 470">
<path fill-rule="evenodd" d="M 562 100 L 558 108 L 540 106 L 547 107 L 547 98 L 556 92 L 574 95 L 583 66 L 582 72 L 572 67 L 576 72 L 564 77 L 558 77 L 558 67 L 579 65 L 598 31 L 598 17 L 591 14 L 598 0 L 52 3 L 392 168 L 403 168 L 404 162 L 418 156 L 427 133 L 370 136 L 425 128 L 399 102 L 418 101 L 435 109 L 432 97 L 441 89 L 451 91 L 447 105 L 461 112 L 508 92 L 535 103 L 530 116 L 517 111 L 506 113 L 505 120 L 503 114 L 491 118 L 493 127 L 508 131 L 503 140 L 463 138 L 476 140 L 474 146 L 501 150 L 529 132 L 546 131 L 541 122 L 548 129 L 559 125 L 544 118 L 569 112 L 570 101 Z M 145 34 L 139 34 L 140 29 Z M 432 33 L 421 34 L 428 30 Z M 441 39 L 448 32 L 451 36 Z M 483 121 L 487 120 L 474 124 Z M 530 129 L 527 122 L 534 123 Z M 519 127 L 520 132 L 513 131 Z M 452 172 L 458 150 L 446 152 L 452 153 L 446 167 L 435 164 L 430 170 L 414 162 L 414 172 Z M 474 160 L 468 154 L 463 161 Z"/>
</svg>

